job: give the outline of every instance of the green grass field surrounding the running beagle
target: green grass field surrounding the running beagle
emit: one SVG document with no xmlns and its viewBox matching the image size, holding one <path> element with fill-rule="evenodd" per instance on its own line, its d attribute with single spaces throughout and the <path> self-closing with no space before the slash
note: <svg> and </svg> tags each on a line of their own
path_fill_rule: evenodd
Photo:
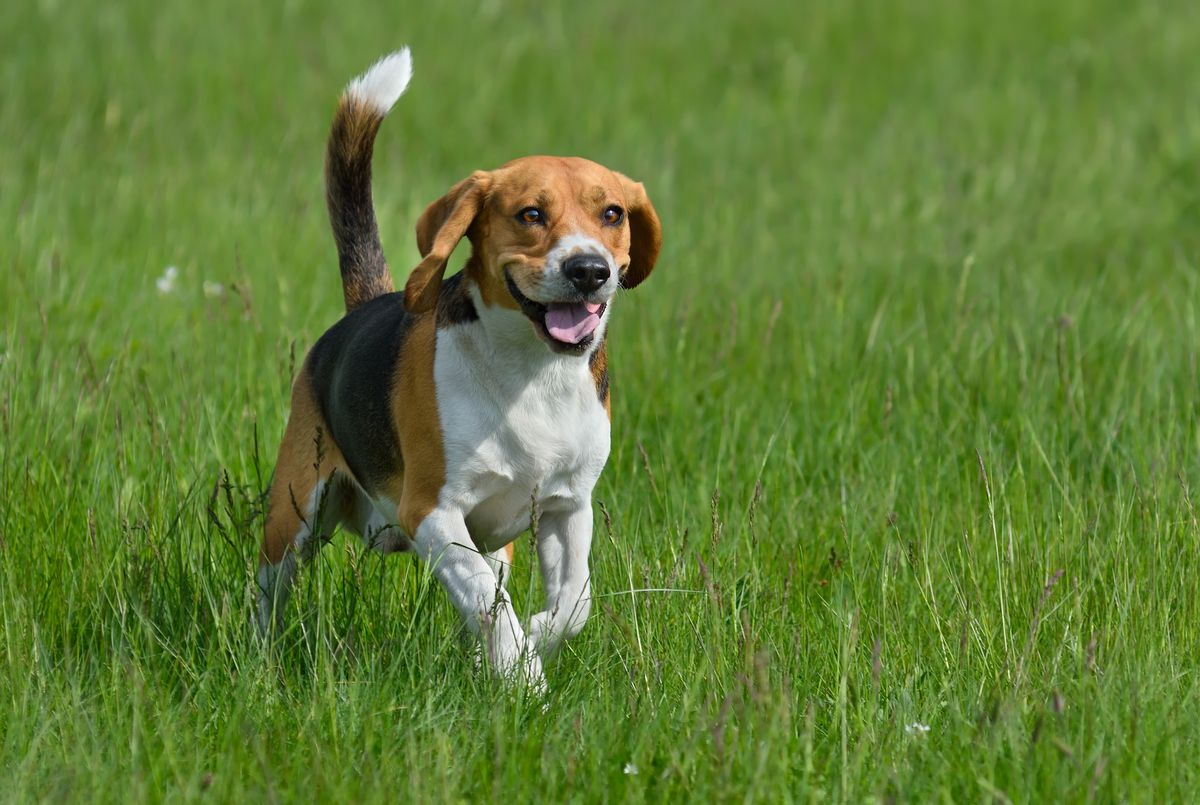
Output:
<svg viewBox="0 0 1200 805">
<path fill-rule="evenodd" d="M 0 14 L 5 799 L 1194 795 L 1200 6 L 337 8 Z M 250 626 L 286 390 L 341 311 L 329 118 L 406 42 L 398 275 L 424 204 L 517 155 L 664 220 L 545 710 L 350 540 L 280 656 Z"/>
</svg>

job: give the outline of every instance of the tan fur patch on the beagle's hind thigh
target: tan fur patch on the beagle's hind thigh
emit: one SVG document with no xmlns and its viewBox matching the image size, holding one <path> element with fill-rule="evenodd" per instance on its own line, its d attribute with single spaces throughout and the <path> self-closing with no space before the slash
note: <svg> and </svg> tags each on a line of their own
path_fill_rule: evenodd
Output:
<svg viewBox="0 0 1200 805">
<path fill-rule="evenodd" d="M 314 512 L 308 510 L 308 503 L 317 482 L 347 473 L 346 461 L 317 407 L 305 367 L 292 384 L 292 414 L 275 463 L 259 564 L 280 563 L 304 525 L 312 523 Z M 346 504 L 343 498 L 344 491 L 335 481 L 324 505 L 340 510 Z"/>
</svg>

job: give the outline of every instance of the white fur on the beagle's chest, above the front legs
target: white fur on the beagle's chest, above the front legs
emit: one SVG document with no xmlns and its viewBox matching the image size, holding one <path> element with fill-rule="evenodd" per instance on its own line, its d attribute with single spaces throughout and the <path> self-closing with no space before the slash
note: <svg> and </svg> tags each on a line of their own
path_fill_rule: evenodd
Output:
<svg viewBox="0 0 1200 805">
<path fill-rule="evenodd" d="M 528 325 L 526 325 L 528 328 Z M 440 504 L 494 551 L 544 511 L 587 505 L 608 458 L 610 423 L 587 356 L 497 343 L 481 323 L 438 331 L 434 378 L 445 450 Z"/>
</svg>

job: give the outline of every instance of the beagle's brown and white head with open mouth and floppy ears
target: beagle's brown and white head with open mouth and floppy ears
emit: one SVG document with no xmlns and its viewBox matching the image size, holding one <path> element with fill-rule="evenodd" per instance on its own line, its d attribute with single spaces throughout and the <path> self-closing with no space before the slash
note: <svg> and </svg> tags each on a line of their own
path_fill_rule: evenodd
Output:
<svg viewBox="0 0 1200 805">
<path fill-rule="evenodd" d="M 475 172 L 421 215 L 424 259 L 404 288 L 408 310 L 437 305 L 446 260 L 463 236 L 484 304 L 520 311 L 564 353 L 587 349 L 617 288 L 646 280 L 662 244 L 640 182 L 588 160 L 516 160 Z"/>
</svg>

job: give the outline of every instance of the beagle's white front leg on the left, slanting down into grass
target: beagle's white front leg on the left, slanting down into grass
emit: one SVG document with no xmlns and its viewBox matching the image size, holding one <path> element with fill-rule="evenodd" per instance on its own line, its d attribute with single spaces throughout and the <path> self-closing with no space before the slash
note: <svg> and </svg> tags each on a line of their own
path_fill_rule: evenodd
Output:
<svg viewBox="0 0 1200 805">
<path fill-rule="evenodd" d="M 493 672 L 542 689 L 541 660 L 527 645 L 512 602 L 472 542 L 462 513 L 434 509 L 416 528 L 413 546 L 450 594 L 467 626 L 484 642 Z"/>
</svg>

